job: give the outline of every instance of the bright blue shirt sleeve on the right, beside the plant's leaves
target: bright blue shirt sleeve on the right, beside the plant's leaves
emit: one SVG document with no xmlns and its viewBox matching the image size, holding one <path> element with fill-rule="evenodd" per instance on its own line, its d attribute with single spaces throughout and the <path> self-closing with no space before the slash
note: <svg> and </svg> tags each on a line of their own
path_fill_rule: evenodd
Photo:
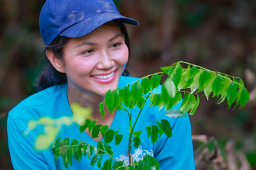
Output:
<svg viewBox="0 0 256 170">
<path fill-rule="evenodd" d="M 160 169 L 193 170 L 193 143 L 189 117 L 169 118 L 172 137 L 162 135 L 154 145 L 154 157 L 159 161 Z"/>
</svg>

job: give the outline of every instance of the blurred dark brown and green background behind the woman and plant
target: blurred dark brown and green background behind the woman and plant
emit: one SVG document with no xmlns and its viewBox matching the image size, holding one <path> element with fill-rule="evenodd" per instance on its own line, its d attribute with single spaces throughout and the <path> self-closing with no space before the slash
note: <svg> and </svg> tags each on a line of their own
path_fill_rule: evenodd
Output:
<svg viewBox="0 0 256 170">
<path fill-rule="evenodd" d="M 124 16 L 140 23 L 127 26 L 132 46 L 128 66 L 131 76 L 143 77 L 183 60 L 245 81 L 251 99 L 244 108 L 233 111 L 227 103 L 217 105 L 217 98 L 206 101 L 201 97 L 191 125 L 193 135 L 217 139 L 225 167 L 231 167 L 227 148 L 232 143 L 236 168 L 242 166 L 242 153 L 244 161 L 256 169 L 256 1 L 115 2 Z M 36 92 L 34 82 L 46 61 L 38 31 L 43 3 L 0 1 L 0 169 L 12 169 L 6 137 L 8 112 Z M 213 168 L 210 162 L 202 169 Z"/>
</svg>

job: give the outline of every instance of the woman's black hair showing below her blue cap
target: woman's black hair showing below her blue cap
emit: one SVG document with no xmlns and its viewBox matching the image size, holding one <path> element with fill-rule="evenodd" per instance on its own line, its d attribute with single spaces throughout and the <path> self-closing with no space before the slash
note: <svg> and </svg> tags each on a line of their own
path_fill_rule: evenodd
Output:
<svg viewBox="0 0 256 170">
<path fill-rule="evenodd" d="M 119 26 L 122 35 L 124 35 L 124 42 L 128 47 L 129 55 L 130 55 L 130 45 L 129 45 L 129 37 L 127 33 L 127 28 L 124 26 L 122 21 L 114 21 Z M 70 38 L 64 36 L 58 36 L 50 43 L 50 45 L 46 46 L 46 51 L 50 50 L 53 52 L 53 55 L 58 59 L 62 60 L 63 58 L 63 47 L 68 44 Z M 128 76 L 129 72 L 125 69 L 124 76 Z M 58 72 L 50 61 L 47 61 L 46 67 L 42 70 L 41 74 L 39 75 L 36 86 L 38 91 L 42 91 L 50 86 L 65 84 L 67 82 L 67 76 L 65 73 Z"/>
</svg>

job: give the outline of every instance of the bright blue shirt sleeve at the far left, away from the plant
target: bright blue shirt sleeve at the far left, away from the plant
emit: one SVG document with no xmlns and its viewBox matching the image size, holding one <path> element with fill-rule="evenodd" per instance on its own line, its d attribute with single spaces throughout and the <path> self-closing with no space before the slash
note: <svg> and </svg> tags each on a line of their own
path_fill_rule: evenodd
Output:
<svg viewBox="0 0 256 170">
<path fill-rule="evenodd" d="M 10 115 L 7 120 L 7 134 L 14 169 L 50 169 L 42 154 L 34 149 L 32 140 L 24 135 L 22 128 Z"/>
</svg>

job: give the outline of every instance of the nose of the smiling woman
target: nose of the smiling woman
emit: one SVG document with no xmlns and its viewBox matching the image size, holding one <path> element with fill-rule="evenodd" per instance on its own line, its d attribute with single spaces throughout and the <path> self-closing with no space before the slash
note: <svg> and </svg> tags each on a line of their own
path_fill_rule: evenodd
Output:
<svg viewBox="0 0 256 170">
<path fill-rule="evenodd" d="M 100 54 L 100 61 L 97 64 L 98 69 L 111 69 L 114 66 L 114 60 L 108 52 Z"/>
</svg>

